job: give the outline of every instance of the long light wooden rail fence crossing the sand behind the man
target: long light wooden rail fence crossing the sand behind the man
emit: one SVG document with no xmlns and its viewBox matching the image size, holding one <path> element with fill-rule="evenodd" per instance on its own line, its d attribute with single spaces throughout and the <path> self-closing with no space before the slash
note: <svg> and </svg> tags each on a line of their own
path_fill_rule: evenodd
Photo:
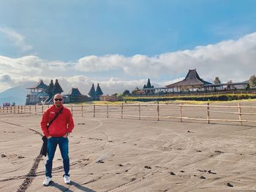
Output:
<svg viewBox="0 0 256 192">
<path fill-rule="evenodd" d="M 42 115 L 48 105 L 0 107 L 1 114 L 29 113 Z M 65 104 L 75 117 L 105 117 L 157 120 L 256 123 L 256 106 L 213 104 Z"/>
</svg>

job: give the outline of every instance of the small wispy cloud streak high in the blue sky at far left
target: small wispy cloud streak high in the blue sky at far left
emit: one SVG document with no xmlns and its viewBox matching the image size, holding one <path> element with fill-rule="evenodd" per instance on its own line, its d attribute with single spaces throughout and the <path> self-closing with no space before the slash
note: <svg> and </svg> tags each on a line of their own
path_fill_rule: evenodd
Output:
<svg viewBox="0 0 256 192">
<path fill-rule="evenodd" d="M 0 27 L 0 32 L 6 34 L 10 41 L 13 42 L 14 45 L 18 47 L 18 49 L 20 49 L 22 53 L 25 53 L 33 48 L 31 45 L 28 45 L 25 42 L 25 37 L 23 37 L 23 35 L 19 34 L 12 28 Z"/>
</svg>

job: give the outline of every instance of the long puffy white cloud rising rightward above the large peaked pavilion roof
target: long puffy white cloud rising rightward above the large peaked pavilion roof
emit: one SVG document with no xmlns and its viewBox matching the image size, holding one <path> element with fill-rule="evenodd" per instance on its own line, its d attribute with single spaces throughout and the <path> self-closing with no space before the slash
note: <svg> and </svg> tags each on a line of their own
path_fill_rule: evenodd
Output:
<svg viewBox="0 0 256 192">
<path fill-rule="evenodd" d="M 81 58 L 76 69 L 84 72 L 110 71 L 121 69 L 133 77 L 177 76 L 188 69 L 197 69 L 200 76 L 214 80 L 219 76 L 223 81 L 241 81 L 255 73 L 256 33 L 237 40 L 227 40 L 214 45 L 198 46 L 193 50 L 180 50 L 153 57 L 134 55 L 87 56 Z"/>
</svg>

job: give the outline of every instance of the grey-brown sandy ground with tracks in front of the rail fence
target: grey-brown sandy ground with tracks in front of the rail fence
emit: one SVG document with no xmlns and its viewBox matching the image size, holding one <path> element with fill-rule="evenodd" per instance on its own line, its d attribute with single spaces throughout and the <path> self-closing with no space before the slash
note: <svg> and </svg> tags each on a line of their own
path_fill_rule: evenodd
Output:
<svg viewBox="0 0 256 192">
<path fill-rule="evenodd" d="M 92 115 L 74 115 L 75 129 L 69 136 L 71 185 L 63 182 L 58 148 L 53 182 L 42 186 L 40 118 L 0 114 L 0 191 L 256 191 L 252 123 Z"/>
</svg>

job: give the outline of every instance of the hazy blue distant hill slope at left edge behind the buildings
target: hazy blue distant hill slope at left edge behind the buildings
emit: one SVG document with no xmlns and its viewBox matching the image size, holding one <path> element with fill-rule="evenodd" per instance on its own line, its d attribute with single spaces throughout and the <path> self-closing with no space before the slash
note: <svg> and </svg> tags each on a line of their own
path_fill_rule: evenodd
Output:
<svg viewBox="0 0 256 192">
<path fill-rule="evenodd" d="M 4 102 L 15 102 L 16 105 L 21 105 L 26 103 L 26 95 L 29 93 L 29 90 L 26 89 L 30 85 L 33 85 L 37 82 L 26 82 L 23 85 L 16 86 L 14 88 L 9 88 L 6 91 L 0 93 L 0 105 L 3 106 Z"/>
</svg>

